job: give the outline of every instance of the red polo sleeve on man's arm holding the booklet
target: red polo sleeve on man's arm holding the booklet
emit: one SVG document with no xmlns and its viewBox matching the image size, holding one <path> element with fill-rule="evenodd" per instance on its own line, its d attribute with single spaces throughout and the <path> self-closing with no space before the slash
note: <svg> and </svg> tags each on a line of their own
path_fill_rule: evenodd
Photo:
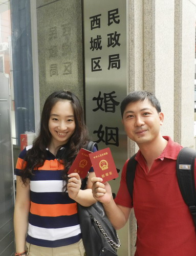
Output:
<svg viewBox="0 0 196 256">
<path fill-rule="evenodd" d="M 122 169 L 120 188 L 115 198 L 115 203 L 125 207 L 132 208 L 132 198 L 130 197 L 127 184 L 126 184 L 127 163 L 128 163 L 128 159 L 126 160 Z"/>
</svg>

